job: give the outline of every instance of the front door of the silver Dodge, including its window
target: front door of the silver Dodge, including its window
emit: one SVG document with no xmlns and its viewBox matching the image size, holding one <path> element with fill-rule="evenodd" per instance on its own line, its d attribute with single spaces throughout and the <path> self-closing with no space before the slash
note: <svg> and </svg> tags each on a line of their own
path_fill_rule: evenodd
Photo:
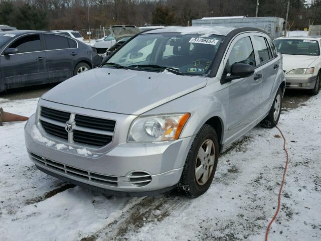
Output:
<svg viewBox="0 0 321 241">
<path fill-rule="evenodd" d="M 228 50 L 228 64 L 250 64 L 256 66 L 256 59 L 250 36 L 236 37 Z M 229 104 L 227 113 L 227 142 L 234 141 L 248 130 L 248 126 L 257 118 L 256 110 L 261 93 L 262 71 L 255 69 L 254 74 L 246 78 L 234 79 L 228 84 Z"/>
</svg>

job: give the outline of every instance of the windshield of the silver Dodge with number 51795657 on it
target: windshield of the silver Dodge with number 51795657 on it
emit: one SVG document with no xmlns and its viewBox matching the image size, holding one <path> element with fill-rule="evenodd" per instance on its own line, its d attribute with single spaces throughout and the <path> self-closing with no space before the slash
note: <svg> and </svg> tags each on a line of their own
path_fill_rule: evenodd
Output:
<svg viewBox="0 0 321 241">
<path fill-rule="evenodd" d="M 163 66 L 187 75 L 203 75 L 211 66 L 223 38 L 203 34 L 142 34 L 119 49 L 106 64 L 116 63 L 144 71 L 163 71 Z"/>
</svg>

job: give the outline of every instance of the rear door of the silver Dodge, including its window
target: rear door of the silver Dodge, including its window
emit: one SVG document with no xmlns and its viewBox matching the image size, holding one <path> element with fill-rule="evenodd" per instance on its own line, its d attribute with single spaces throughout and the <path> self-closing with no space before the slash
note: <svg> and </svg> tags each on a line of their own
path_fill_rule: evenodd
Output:
<svg viewBox="0 0 321 241">
<path fill-rule="evenodd" d="M 261 114 L 266 113 L 270 108 L 271 91 L 277 71 L 279 70 L 279 58 L 276 51 L 270 48 L 272 42 L 265 35 L 255 33 L 252 36 L 253 47 L 258 62 L 257 68 L 262 71 L 262 88 L 259 98 Z M 274 48 L 275 49 L 275 48 Z"/>
</svg>

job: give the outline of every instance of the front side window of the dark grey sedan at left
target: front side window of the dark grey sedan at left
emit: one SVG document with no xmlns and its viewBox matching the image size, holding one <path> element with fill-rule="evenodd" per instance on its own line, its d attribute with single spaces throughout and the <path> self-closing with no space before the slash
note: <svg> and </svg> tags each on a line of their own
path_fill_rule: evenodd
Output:
<svg viewBox="0 0 321 241">
<path fill-rule="evenodd" d="M 18 48 L 19 53 L 42 51 L 39 34 L 28 35 L 13 42 L 9 48 Z"/>
</svg>

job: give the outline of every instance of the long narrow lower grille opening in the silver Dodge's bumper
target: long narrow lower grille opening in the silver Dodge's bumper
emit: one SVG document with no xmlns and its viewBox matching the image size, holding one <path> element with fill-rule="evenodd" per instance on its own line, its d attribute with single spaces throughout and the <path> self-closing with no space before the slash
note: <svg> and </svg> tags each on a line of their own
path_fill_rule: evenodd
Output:
<svg viewBox="0 0 321 241">
<path fill-rule="evenodd" d="M 30 153 L 30 158 L 40 167 L 47 167 L 62 174 L 89 180 L 93 183 L 103 184 L 106 186 L 121 187 L 142 187 L 151 182 L 151 176 L 146 172 L 132 172 L 126 177 L 102 175 L 99 173 L 85 171 L 76 167 L 71 167 L 59 162 Z"/>
</svg>

